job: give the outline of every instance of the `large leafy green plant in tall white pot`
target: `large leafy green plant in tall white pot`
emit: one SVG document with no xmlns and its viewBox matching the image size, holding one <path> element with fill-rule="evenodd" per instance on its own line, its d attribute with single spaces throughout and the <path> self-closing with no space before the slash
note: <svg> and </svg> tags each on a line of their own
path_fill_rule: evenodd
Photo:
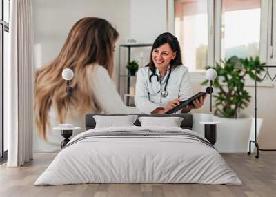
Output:
<svg viewBox="0 0 276 197">
<path fill-rule="evenodd" d="M 213 81 L 215 87 L 215 111 L 213 121 L 222 124 L 218 126 L 216 147 L 220 152 L 246 152 L 252 116 L 240 114 L 250 103 L 251 96 L 245 89 L 246 76 L 255 80 L 255 65 L 260 63 L 259 57 L 242 59 L 232 56 L 226 61 L 216 63 L 217 78 Z M 206 69 L 211 68 L 210 66 Z M 256 79 L 261 81 L 260 74 L 264 68 L 256 68 Z M 201 83 L 206 85 L 208 80 Z"/>
</svg>

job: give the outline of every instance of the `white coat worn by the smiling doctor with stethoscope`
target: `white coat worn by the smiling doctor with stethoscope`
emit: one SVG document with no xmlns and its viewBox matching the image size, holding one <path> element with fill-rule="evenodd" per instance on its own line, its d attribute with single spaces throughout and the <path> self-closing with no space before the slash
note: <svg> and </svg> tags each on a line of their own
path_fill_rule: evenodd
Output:
<svg viewBox="0 0 276 197">
<path fill-rule="evenodd" d="M 180 98 L 181 101 L 186 100 L 193 96 L 192 87 L 190 84 L 190 77 L 188 75 L 188 68 L 184 65 L 179 65 L 173 69 L 168 80 L 166 98 L 161 97 L 161 92 L 165 88 L 166 79 L 157 81 L 157 76 L 152 76 L 150 83 L 150 75 L 152 71 L 149 67 L 140 68 L 137 73 L 136 92 L 135 92 L 135 105 L 140 112 L 150 114 L 157 107 L 165 107 L 169 101 Z M 156 74 L 160 78 L 158 69 Z"/>
</svg>

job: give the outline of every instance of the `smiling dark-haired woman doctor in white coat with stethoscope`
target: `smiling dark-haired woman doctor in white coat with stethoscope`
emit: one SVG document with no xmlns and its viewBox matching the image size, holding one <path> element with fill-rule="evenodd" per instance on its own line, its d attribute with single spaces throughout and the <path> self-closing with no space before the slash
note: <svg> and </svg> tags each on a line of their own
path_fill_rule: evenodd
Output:
<svg viewBox="0 0 276 197">
<path fill-rule="evenodd" d="M 193 96 L 188 68 L 182 65 L 177 38 L 163 33 L 152 45 L 150 63 L 137 74 L 135 105 L 146 114 L 164 114 Z M 206 96 L 195 100 L 181 112 L 190 112 L 204 104 Z"/>
</svg>

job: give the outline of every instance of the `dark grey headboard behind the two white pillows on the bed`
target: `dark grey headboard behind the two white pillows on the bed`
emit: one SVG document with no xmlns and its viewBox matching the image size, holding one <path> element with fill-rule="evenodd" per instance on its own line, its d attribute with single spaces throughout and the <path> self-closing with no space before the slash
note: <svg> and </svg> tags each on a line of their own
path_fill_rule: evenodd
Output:
<svg viewBox="0 0 276 197">
<path fill-rule="evenodd" d="M 127 114 L 86 114 L 86 130 L 88 129 L 94 129 L 96 126 L 96 121 L 93 118 L 95 115 L 101 115 L 101 116 L 124 116 Z M 142 116 L 151 116 L 151 117 L 181 117 L 184 118 L 181 122 L 180 127 L 183 129 L 192 129 L 193 128 L 193 115 L 192 114 L 135 114 L 139 117 Z M 141 126 L 140 121 L 137 119 L 134 123 L 136 126 Z"/>
</svg>

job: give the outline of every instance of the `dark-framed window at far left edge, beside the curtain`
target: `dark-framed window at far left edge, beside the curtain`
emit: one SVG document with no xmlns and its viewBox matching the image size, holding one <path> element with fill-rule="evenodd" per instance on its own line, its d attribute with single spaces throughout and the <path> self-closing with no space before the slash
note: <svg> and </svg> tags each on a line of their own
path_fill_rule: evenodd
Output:
<svg viewBox="0 0 276 197">
<path fill-rule="evenodd" d="M 9 32 L 10 0 L 0 1 L 0 158 L 3 158 L 4 152 L 8 149 L 6 143 L 7 134 L 3 133 L 3 68 L 8 63 L 8 32 Z M 1 159 L 2 160 L 2 159 Z M 1 162 L 0 160 L 0 162 Z"/>
</svg>

